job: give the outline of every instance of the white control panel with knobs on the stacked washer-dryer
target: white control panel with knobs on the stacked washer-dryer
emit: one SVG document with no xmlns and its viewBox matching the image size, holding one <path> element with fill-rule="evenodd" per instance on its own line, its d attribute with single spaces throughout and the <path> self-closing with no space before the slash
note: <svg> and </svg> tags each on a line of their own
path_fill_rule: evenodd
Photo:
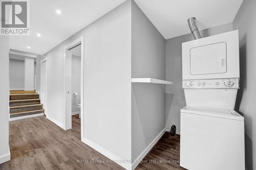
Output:
<svg viewBox="0 0 256 170">
<path fill-rule="evenodd" d="M 239 78 L 183 80 L 182 88 L 240 88 Z"/>
</svg>

